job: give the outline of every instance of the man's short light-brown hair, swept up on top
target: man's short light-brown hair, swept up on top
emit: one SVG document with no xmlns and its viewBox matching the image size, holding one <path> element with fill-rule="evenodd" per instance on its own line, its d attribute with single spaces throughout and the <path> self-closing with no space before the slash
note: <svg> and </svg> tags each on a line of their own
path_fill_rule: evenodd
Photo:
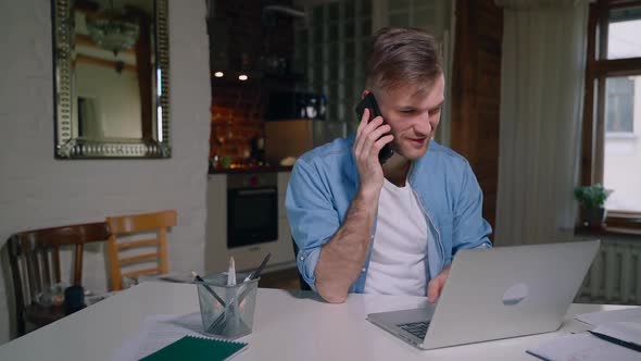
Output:
<svg viewBox="0 0 641 361">
<path fill-rule="evenodd" d="M 384 27 L 374 35 L 365 70 L 368 88 L 391 90 L 403 84 L 427 88 L 442 73 L 438 43 L 427 32 Z"/>
</svg>

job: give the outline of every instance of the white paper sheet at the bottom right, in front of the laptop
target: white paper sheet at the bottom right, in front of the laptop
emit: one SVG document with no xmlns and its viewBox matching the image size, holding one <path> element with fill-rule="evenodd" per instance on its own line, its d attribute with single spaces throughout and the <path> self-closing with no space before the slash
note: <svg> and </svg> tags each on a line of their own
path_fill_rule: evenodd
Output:
<svg viewBox="0 0 641 361">
<path fill-rule="evenodd" d="M 639 361 L 639 352 L 590 333 L 561 336 L 527 352 L 550 361 Z"/>
</svg>

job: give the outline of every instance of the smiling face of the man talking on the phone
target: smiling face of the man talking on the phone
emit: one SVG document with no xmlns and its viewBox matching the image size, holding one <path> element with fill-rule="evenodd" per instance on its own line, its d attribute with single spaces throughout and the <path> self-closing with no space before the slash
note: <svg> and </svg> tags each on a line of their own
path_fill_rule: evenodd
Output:
<svg viewBox="0 0 641 361">
<path fill-rule="evenodd" d="M 441 119 L 444 88 L 440 75 L 429 88 L 407 85 L 390 91 L 374 90 L 382 117 L 392 128 L 392 149 L 399 155 L 416 160 L 425 154 Z"/>
</svg>

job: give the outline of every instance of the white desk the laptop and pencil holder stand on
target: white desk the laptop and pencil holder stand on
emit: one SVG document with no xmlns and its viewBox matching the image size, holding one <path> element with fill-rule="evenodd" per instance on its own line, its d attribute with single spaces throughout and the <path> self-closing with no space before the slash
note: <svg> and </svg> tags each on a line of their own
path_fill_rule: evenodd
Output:
<svg viewBox="0 0 641 361">
<path fill-rule="evenodd" d="M 556 333 L 430 351 L 365 320 L 367 313 L 425 304 L 422 297 L 350 295 L 343 304 L 301 291 L 259 289 L 249 348 L 235 360 L 537 360 L 525 350 L 585 326 L 576 313 L 625 307 L 573 304 Z M 0 347 L 0 360 L 110 360 L 148 315 L 198 311 L 196 286 L 143 283 Z"/>
</svg>

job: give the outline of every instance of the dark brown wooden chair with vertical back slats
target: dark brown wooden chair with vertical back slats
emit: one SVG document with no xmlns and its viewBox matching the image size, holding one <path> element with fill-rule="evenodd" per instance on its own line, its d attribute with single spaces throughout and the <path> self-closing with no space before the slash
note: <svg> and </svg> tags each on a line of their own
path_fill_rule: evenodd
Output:
<svg viewBox="0 0 641 361">
<path fill-rule="evenodd" d="M 61 283 L 61 248 L 75 248 L 72 284 L 81 286 L 84 245 L 108 237 L 106 225 L 100 222 L 21 232 L 9 238 L 18 336 L 26 333 L 27 323 L 38 328 L 65 315 L 63 306 L 36 302 L 38 294 Z"/>
</svg>

